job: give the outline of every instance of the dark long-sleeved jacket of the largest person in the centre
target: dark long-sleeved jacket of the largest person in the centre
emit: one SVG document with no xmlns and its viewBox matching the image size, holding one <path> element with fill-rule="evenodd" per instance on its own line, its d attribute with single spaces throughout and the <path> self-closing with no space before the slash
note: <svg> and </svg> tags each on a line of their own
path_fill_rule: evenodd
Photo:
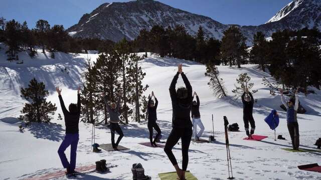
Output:
<svg viewBox="0 0 321 180">
<path fill-rule="evenodd" d="M 184 72 L 182 72 L 181 75 L 187 88 L 188 95 L 185 99 L 178 98 L 176 93 L 176 83 L 177 79 L 179 78 L 179 74 L 179 72 L 176 73 L 170 85 L 170 95 L 173 107 L 172 126 L 178 128 L 192 127 L 192 122 L 190 118 L 193 101 L 192 86 Z"/>
</svg>

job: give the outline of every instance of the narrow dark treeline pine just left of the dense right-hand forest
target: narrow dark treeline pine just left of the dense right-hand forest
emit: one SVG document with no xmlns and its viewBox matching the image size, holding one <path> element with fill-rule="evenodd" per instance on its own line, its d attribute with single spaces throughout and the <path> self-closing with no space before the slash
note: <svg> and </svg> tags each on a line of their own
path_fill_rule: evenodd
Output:
<svg viewBox="0 0 321 180">
<path fill-rule="evenodd" d="M 258 63 L 261 70 L 265 71 L 265 64 L 268 63 L 267 56 L 268 44 L 264 38 L 264 34 L 261 31 L 258 31 L 254 34 L 253 47 L 250 51 L 250 60 L 253 63 Z"/>
</svg>

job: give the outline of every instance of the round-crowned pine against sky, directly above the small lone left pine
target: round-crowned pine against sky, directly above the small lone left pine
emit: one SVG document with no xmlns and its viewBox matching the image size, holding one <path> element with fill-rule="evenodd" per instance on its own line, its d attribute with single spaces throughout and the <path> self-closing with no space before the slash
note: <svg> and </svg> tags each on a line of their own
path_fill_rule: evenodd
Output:
<svg viewBox="0 0 321 180">
<path fill-rule="evenodd" d="M 40 19 L 36 23 L 36 32 L 38 34 L 38 40 L 42 45 L 42 53 L 45 53 L 45 44 L 48 42 L 48 32 L 50 30 L 50 24 L 47 20 Z"/>
</svg>

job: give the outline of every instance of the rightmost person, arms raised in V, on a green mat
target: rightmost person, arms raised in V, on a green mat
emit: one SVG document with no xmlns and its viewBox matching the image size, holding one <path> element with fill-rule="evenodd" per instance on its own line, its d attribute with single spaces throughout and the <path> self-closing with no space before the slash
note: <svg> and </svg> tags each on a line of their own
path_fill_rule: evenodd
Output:
<svg viewBox="0 0 321 180">
<path fill-rule="evenodd" d="M 299 124 L 297 123 L 296 113 L 297 113 L 297 108 L 299 107 L 299 96 L 296 90 L 295 101 L 293 98 L 290 98 L 286 103 L 283 96 L 282 89 L 280 89 L 280 93 L 281 93 L 281 101 L 286 108 L 287 129 L 289 130 L 289 133 L 290 133 L 292 147 L 294 150 L 298 150 L 300 145 L 300 140 L 299 140 Z"/>
</svg>

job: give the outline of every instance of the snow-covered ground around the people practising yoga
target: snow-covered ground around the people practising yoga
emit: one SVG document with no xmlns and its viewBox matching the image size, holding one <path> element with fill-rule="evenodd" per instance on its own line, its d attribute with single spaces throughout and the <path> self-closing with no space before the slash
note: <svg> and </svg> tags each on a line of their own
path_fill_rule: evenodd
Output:
<svg viewBox="0 0 321 180">
<path fill-rule="evenodd" d="M 0 44 L 1 45 L 1 44 Z M 4 47 L 4 46 L 2 46 Z M 88 54 L 92 60 L 98 54 Z M 62 169 L 58 157 L 58 147 L 64 137 L 64 121 L 52 120 L 51 123 L 33 123 L 23 132 L 19 131 L 20 122 L 16 117 L 25 102 L 20 97 L 20 88 L 27 86 L 31 78 L 36 77 L 44 81 L 50 92 L 49 100 L 56 103 L 58 113 L 62 113 L 55 86 L 62 87 L 65 104 L 76 101 L 76 88 L 81 84 L 80 73 L 84 70 L 87 54 L 56 53 L 56 59 L 50 54 L 44 55 L 40 51 L 34 59 L 30 59 L 26 52 L 19 53 L 23 64 L 8 62 L 5 50 L 0 50 L 0 179 L 24 179 Z M 158 124 L 163 137 L 166 139 L 172 129 L 172 107 L 169 96 L 169 85 L 177 71 L 178 63 L 183 63 L 183 70 L 190 79 L 193 90 L 200 97 L 201 116 L 205 125 L 204 138 L 212 135 L 211 115 L 214 114 L 214 143 L 191 143 L 189 151 L 188 169 L 198 179 L 226 179 L 228 177 L 223 116 L 226 115 L 230 123 L 237 122 L 240 132 L 229 132 L 230 150 L 232 155 L 233 175 L 236 179 L 321 179 L 320 173 L 302 171 L 297 165 L 320 162 L 321 152 L 289 152 L 282 150 L 291 147 L 290 137 L 286 127 L 285 112 L 279 107 L 280 96 L 269 94 L 269 88 L 262 84 L 262 77 L 273 80 L 268 73 L 256 68 L 256 65 L 242 65 L 242 68 L 218 66 L 220 75 L 225 81 L 229 97 L 217 99 L 207 85 L 209 80 L 204 75 L 205 66 L 192 61 L 174 58 L 158 58 L 151 56 L 140 61 L 146 72 L 144 83 L 159 100 L 157 109 Z M 64 70 L 67 68 L 68 73 Z M 248 72 L 254 82 L 253 89 L 257 103 L 254 105 L 253 116 L 256 121 L 256 133 L 267 135 L 262 141 L 243 140 L 245 132 L 242 120 L 242 102 L 232 97 L 235 79 L 241 72 Z M 183 85 L 180 77 L 177 87 Z M 302 147 L 314 149 L 312 145 L 321 136 L 321 92 L 316 94 L 299 94 L 306 114 L 298 114 L 300 142 Z M 280 125 L 277 134 L 282 134 L 287 140 L 274 141 L 274 131 L 264 122 L 264 117 L 270 110 L 279 111 Z M 120 145 L 130 150 L 101 153 L 91 152 L 91 124 L 79 124 L 80 140 L 77 150 L 77 166 L 93 164 L 95 160 L 106 159 L 107 162 L 117 164 L 111 172 L 99 174 L 96 172 L 83 175 L 81 179 L 131 179 L 131 165 L 140 162 L 145 168 L 145 174 L 152 179 L 159 179 L 157 173 L 174 171 L 163 148 L 151 148 L 138 144 L 148 142 L 146 122 L 140 124 L 130 122 L 121 125 L 124 138 Z M 96 127 L 96 142 L 110 143 L 110 130 L 104 125 Z M 67 157 L 69 156 L 67 149 Z M 174 153 L 181 166 L 182 153 L 180 145 L 176 145 Z M 59 179 L 65 179 L 60 177 Z"/>
</svg>

